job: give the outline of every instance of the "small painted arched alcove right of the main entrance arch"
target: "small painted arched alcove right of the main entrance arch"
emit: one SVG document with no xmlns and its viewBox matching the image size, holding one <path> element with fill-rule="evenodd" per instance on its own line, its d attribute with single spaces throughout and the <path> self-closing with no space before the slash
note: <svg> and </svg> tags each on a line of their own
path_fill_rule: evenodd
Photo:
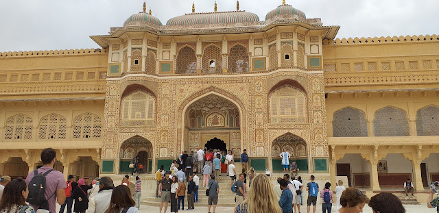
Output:
<svg viewBox="0 0 439 213">
<path fill-rule="evenodd" d="M 281 157 L 279 156 L 283 149 L 287 149 L 291 157 L 289 164 L 296 162 L 300 172 L 308 171 L 307 143 L 303 138 L 295 134 L 286 133 L 273 140 L 272 143 L 272 166 L 273 171 L 283 171 Z"/>
</svg>

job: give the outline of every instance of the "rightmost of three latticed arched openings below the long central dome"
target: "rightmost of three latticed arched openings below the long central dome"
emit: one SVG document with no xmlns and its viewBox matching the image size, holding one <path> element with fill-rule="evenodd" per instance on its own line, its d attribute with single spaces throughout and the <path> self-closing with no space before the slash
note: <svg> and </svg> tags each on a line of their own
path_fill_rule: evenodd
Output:
<svg viewBox="0 0 439 213">
<path fill-rule="evenodd" d="M 248 50 L 243 45 L 235 45 L 228 53 L 228 72 L 248 72 Z"/>
</svg>

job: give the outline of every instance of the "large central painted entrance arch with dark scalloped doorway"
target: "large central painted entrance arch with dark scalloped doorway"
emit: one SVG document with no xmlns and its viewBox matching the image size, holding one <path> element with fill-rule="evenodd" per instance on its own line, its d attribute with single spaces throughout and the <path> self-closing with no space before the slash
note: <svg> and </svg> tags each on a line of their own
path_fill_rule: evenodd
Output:
<svg viewBox="0 0 439 213">
<path fill-rule="evenodd" d="M 235 103 L 210 94 L 198 99 L 185 112 L 185 151 L 200 147 L 230 149 L 239 158 L 241 153 L 241 114 Z"/>
</svg>

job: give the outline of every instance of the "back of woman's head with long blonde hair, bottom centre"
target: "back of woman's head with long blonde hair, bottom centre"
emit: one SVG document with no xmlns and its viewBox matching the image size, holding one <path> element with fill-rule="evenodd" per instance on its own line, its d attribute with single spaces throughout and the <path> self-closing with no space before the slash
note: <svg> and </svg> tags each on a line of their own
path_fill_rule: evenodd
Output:
<svg viewBox="0 0 439 213">
<path fill-rule="evenodd" d="M 254 177 L 250 193 L 246 200 L 239 204 L 235 213 L 282 213 L 281 206 L 274 195 L 273 184 L 267 175 Z"/>
</svg>

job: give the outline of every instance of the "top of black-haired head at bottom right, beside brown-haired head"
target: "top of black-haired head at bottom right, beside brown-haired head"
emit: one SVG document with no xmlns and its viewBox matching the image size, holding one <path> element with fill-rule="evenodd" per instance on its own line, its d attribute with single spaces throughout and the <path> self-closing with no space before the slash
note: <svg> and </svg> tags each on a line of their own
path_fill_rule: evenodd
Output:
<svg viewBox="0 0 439 213">
<path fill-rule="evenodd" d="M 376 213 L 405 213 L 401 200 L 388 192 L 381 192 L 370 198 L 369 206 Z"/>
</svg>

